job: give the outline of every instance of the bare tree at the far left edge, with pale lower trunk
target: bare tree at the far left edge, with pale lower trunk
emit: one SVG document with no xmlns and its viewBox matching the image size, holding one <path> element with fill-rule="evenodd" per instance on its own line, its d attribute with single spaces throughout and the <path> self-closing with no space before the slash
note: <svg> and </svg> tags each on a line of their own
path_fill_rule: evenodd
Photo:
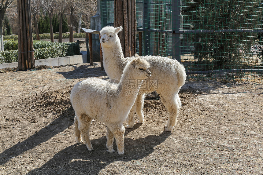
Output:
<svg viewBox="0 0 263 175">
<path fill-rule="evenodd" d="M 5 17 L 6 9 L 12 7 L 14 0 L 1 0 L 0 2 L 0 50 L 4 50 L 3 42 L 3 20 Z"/>
</svg>

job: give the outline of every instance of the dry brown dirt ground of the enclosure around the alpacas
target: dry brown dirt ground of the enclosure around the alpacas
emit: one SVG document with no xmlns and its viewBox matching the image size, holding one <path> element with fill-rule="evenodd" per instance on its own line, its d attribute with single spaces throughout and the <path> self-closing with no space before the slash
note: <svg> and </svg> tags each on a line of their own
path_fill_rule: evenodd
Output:
<svg viewBox="0 0 263 175">
<path fill-rule="evenodd" d="M 75 142 L 70 90 L 88 77 L 107 79 L 98 63 L 0 74 L 1 175 L 263 174 L 262 84 L 187 82 L 172 132 L 159 97 L 146 98 L 145 122 L 126 129 L 118 155 L 96 120 L 94 151 Z"/>
</svg>

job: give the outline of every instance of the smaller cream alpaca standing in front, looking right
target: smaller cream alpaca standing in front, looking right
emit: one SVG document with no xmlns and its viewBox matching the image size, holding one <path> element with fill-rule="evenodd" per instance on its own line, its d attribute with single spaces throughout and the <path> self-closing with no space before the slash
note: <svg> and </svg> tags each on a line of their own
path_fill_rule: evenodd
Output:
<svg viewBox="0 0 263 175">
<path fill-rule="evenodd" d="M 77 143 L 84 141 L 89 151 L 94 150 L 90 142 L 89 129 L 92 118 L 96 118 L 107 126 L 107 151 L 110 153 L 115 151 L 113 150 L 115 137 L 118 153 L 124 154 L 123 122 L 135 102 L 142 81 L 138 81 L 135 86 L 129 86 L 128 82 L 134 79 L 144 80 L 150 76 L 147 61 L 136 56 L 124 68 L 119 84 L 98 78 L 78 82 L 70 94 L 76 114 L 74 125 Z"/>
</svg>

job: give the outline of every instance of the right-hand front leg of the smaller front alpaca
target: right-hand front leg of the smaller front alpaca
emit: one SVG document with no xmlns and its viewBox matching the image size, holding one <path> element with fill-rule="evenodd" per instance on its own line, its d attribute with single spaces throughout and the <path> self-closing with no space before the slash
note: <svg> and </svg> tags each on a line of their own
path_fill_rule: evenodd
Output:
<svg viewBox="0 0 263 175">
<path fill-rule="evenodd" d="M 118 154 L 124 154 L 124 126 L 120 123 L 118 125 L 111 126 L 109 129 L 112 131 L 115 137 Z"/>
</svg>

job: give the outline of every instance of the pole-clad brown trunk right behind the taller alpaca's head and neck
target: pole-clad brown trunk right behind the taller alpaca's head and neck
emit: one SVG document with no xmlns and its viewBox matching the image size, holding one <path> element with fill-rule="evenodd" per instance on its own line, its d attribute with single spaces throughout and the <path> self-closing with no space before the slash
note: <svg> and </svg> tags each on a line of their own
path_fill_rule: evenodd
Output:
<svg viewBox="0 0 263 175">
<path fill-rule="evenodd" d="M 114 27 L 123 27 L 118 35 L 124 57 L 136 53 L 136 5 L 135 0 L 114 0 Z"/>
</svg>

